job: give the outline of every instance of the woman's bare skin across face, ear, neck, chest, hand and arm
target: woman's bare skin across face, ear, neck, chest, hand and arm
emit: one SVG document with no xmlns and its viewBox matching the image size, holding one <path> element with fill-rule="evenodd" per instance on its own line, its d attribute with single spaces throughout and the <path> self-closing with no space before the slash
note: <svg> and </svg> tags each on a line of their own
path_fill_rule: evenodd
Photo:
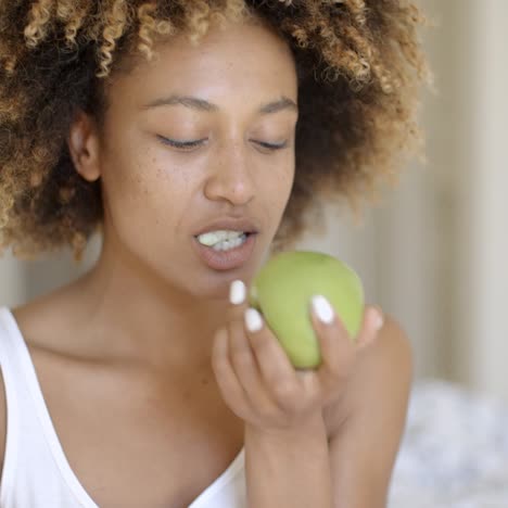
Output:
<svg viewBox="0 0 508 508">
<path fill-rule="evenodd" d="M 388 319 L 378 332 L 372 307 L 357 348 L 336 320 L 316 323 L 328 360 L 302 376 L 228 302 L 230 282 L 249 284 L 261 266 L 291 192 L 296 112 L 259 107 L 297 103 L 292 55 L 252 23 L 158 49 L 154 63 L 114 76 L 103 129 L 81 114 L 69 132 L 77 170 L 103 185 L 99 263 L 14 312 L 69 463 L 105 508 L 187 506 L 244 444 L 250 508 L 381 507 L 407 405 L 404 333 Z M 143 107 L 182 93 L 216 107 Z M 157 135 L 206 141 L 182 152 Z M 258 234 L 244 266 L 218 272 L 193 234 L 224 217 L 249 218 Z M 243 384 L 239 370 L 252 374 Z M 259 384 L 267 371 L 271 383 Z M 255 386 L 270 406 L 246 405 L 240 388 Z M 4 415 L 0 390 L 0 445 Z"/>
</svg>

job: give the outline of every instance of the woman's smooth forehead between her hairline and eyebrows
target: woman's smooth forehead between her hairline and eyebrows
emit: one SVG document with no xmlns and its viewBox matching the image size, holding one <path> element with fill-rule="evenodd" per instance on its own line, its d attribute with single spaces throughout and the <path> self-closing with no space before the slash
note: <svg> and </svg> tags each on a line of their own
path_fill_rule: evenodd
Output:
<svg viewBox="0 0 508 508">
<path fill-rule="evenodd" d="M 199 45 L 180 36 L 158 43 L 155 51 L 152 61 L 140 62 L 114 80 L 113 96 L 136 96 L 140 106 L 172 96 L 198 97 L 212 104 L 233 94 L 267 96 L 259 98 L 261 102 L 280 96 L 296 100 L 293 55 L 285 42 L 266 28 L 216 29 Z"/>
</svg>

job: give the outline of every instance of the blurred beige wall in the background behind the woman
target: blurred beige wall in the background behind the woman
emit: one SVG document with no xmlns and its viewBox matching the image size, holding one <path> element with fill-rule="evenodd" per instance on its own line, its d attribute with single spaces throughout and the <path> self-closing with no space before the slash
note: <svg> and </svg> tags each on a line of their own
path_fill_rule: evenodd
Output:
<svg viewBox="0 0 508 508">
<path fill-rule="evenodd" d="M 418 378 L 440 377 L 508 399 L 508 21 L 505 0 L 421 0 L 439 26 L 424 36 L 437 94 L 421 120 L 428 164 L 415 163 L 361 227 L 331 208 L 328 232 L 301 247 L 338 255 L 360 274 L 367 300 L 406 329 Z M 65 283 L 85 265 L 69 255 L 0 261 L 0 304 Z"/>
</svg>

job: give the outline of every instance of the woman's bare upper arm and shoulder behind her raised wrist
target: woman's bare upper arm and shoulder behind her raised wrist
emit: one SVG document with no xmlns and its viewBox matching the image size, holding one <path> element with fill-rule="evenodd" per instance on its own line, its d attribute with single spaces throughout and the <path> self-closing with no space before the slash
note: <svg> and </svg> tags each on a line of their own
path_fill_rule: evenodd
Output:
<svg viewBox="0 0 508 508">
<path fill-rule="evenodd" d="M 351 415 L 330 440 L 334 508 L 384 508 L 406 422 L 411 350 L 389 317 L 361 352 L 347 389 Z"/>
</svg>

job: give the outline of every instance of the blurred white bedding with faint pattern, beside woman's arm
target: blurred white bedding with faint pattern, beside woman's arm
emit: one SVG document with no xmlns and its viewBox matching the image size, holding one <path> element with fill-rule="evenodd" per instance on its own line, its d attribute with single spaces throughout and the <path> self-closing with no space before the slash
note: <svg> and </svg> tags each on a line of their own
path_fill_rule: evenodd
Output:
<svg viewBox="0 0 508 508">
<path fill-rule="evenodd" d="M 508 508 L 508 406 L 442 381 L 414 388 L 390 508 Z"/>
</svg>

